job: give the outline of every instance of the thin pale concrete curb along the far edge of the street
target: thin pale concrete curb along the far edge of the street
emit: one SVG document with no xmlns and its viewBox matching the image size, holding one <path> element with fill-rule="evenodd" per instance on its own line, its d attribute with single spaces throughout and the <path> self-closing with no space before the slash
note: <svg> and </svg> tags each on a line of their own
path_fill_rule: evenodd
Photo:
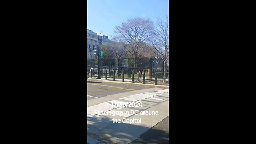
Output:
<svg viewBox="0 0 256 144">
<path fill-rule="evenodd" d="M 106 79 L 88 78 L 87 81 L 110 82 L 110 83 L 123 83 L 123 84 L 143 85 L 143 86 L 159 87 L 159 88 L 166 88 L 166 89 L 169 89 L 169 86 L 166 86 L 166 85 L 131 83 L 131 82 L 122 82 L 122 81 L 118 81 L 118 80 L 117 80 L 117 81 L 111 81 L 111 80 L 106 80 Z"/>
</svg>

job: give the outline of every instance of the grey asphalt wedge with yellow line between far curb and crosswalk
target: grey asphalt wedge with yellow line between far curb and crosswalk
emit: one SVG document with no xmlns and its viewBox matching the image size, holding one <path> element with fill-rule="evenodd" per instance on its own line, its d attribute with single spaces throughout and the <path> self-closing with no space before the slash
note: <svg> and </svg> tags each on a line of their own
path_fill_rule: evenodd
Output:
<svg viewBox="0 0 256 144">
<path fill-rule="evenodd" d="M 130 85 L 121 83 L 108 83 L 108 82 L 87 82 L 87 100 L 105 97 L 107 95 L 123 93 L 127 91 L 137 91 L 142 89 L 149 89 L 149 86 Z"/>
</svg>

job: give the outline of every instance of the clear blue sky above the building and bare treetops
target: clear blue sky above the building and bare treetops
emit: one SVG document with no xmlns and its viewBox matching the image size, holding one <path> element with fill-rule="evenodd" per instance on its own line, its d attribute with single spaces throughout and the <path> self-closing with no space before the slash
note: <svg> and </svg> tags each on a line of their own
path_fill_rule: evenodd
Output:
<svg viewBox="0 0 256 144">
<path fill-rule="evenodd" d="M 115 26 L 127 18 L 150 18 L 155 23 L 168 13 L 168 4 L 168 0 L 87 0 L 87 29 L 111 39 Z"/>
</svg>

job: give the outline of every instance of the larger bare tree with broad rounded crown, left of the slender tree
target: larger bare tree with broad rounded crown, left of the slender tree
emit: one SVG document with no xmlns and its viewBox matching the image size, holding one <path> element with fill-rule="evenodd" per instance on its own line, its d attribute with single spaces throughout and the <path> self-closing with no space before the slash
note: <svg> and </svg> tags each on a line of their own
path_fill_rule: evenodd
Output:
<svg viewBox="0 0 256 144">
<path fill-rule="evenodd" d="M 148 18 L 134 17 L 121 23 L 121 26 L 114 28 L 113 39 L 122 44 L 129 52 L 129 57 L 134 60 L 137 69 L 138 59 L 143 56 L 143 44 L 147 40 L 147 33 L 154 27 L 153 22 Z"/>
</svg>

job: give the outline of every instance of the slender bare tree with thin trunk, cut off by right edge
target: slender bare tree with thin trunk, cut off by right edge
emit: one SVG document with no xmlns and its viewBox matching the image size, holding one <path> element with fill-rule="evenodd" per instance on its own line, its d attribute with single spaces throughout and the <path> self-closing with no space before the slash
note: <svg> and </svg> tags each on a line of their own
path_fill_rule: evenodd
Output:
<svg viewBox="0 0 256 144">
<path fill-rule="evenodd" d="M 150 31 L 148 41 L 151 46 L 154 47 L 152 51 L 155 53 L 158 59 L 163 61 L 164 76 L 163 82 L 165 82 L 165 66 L 169 60 L 169 15 L 167 14 L 165 19 L 158 18 L 156 26 Z"/>
</svg>

